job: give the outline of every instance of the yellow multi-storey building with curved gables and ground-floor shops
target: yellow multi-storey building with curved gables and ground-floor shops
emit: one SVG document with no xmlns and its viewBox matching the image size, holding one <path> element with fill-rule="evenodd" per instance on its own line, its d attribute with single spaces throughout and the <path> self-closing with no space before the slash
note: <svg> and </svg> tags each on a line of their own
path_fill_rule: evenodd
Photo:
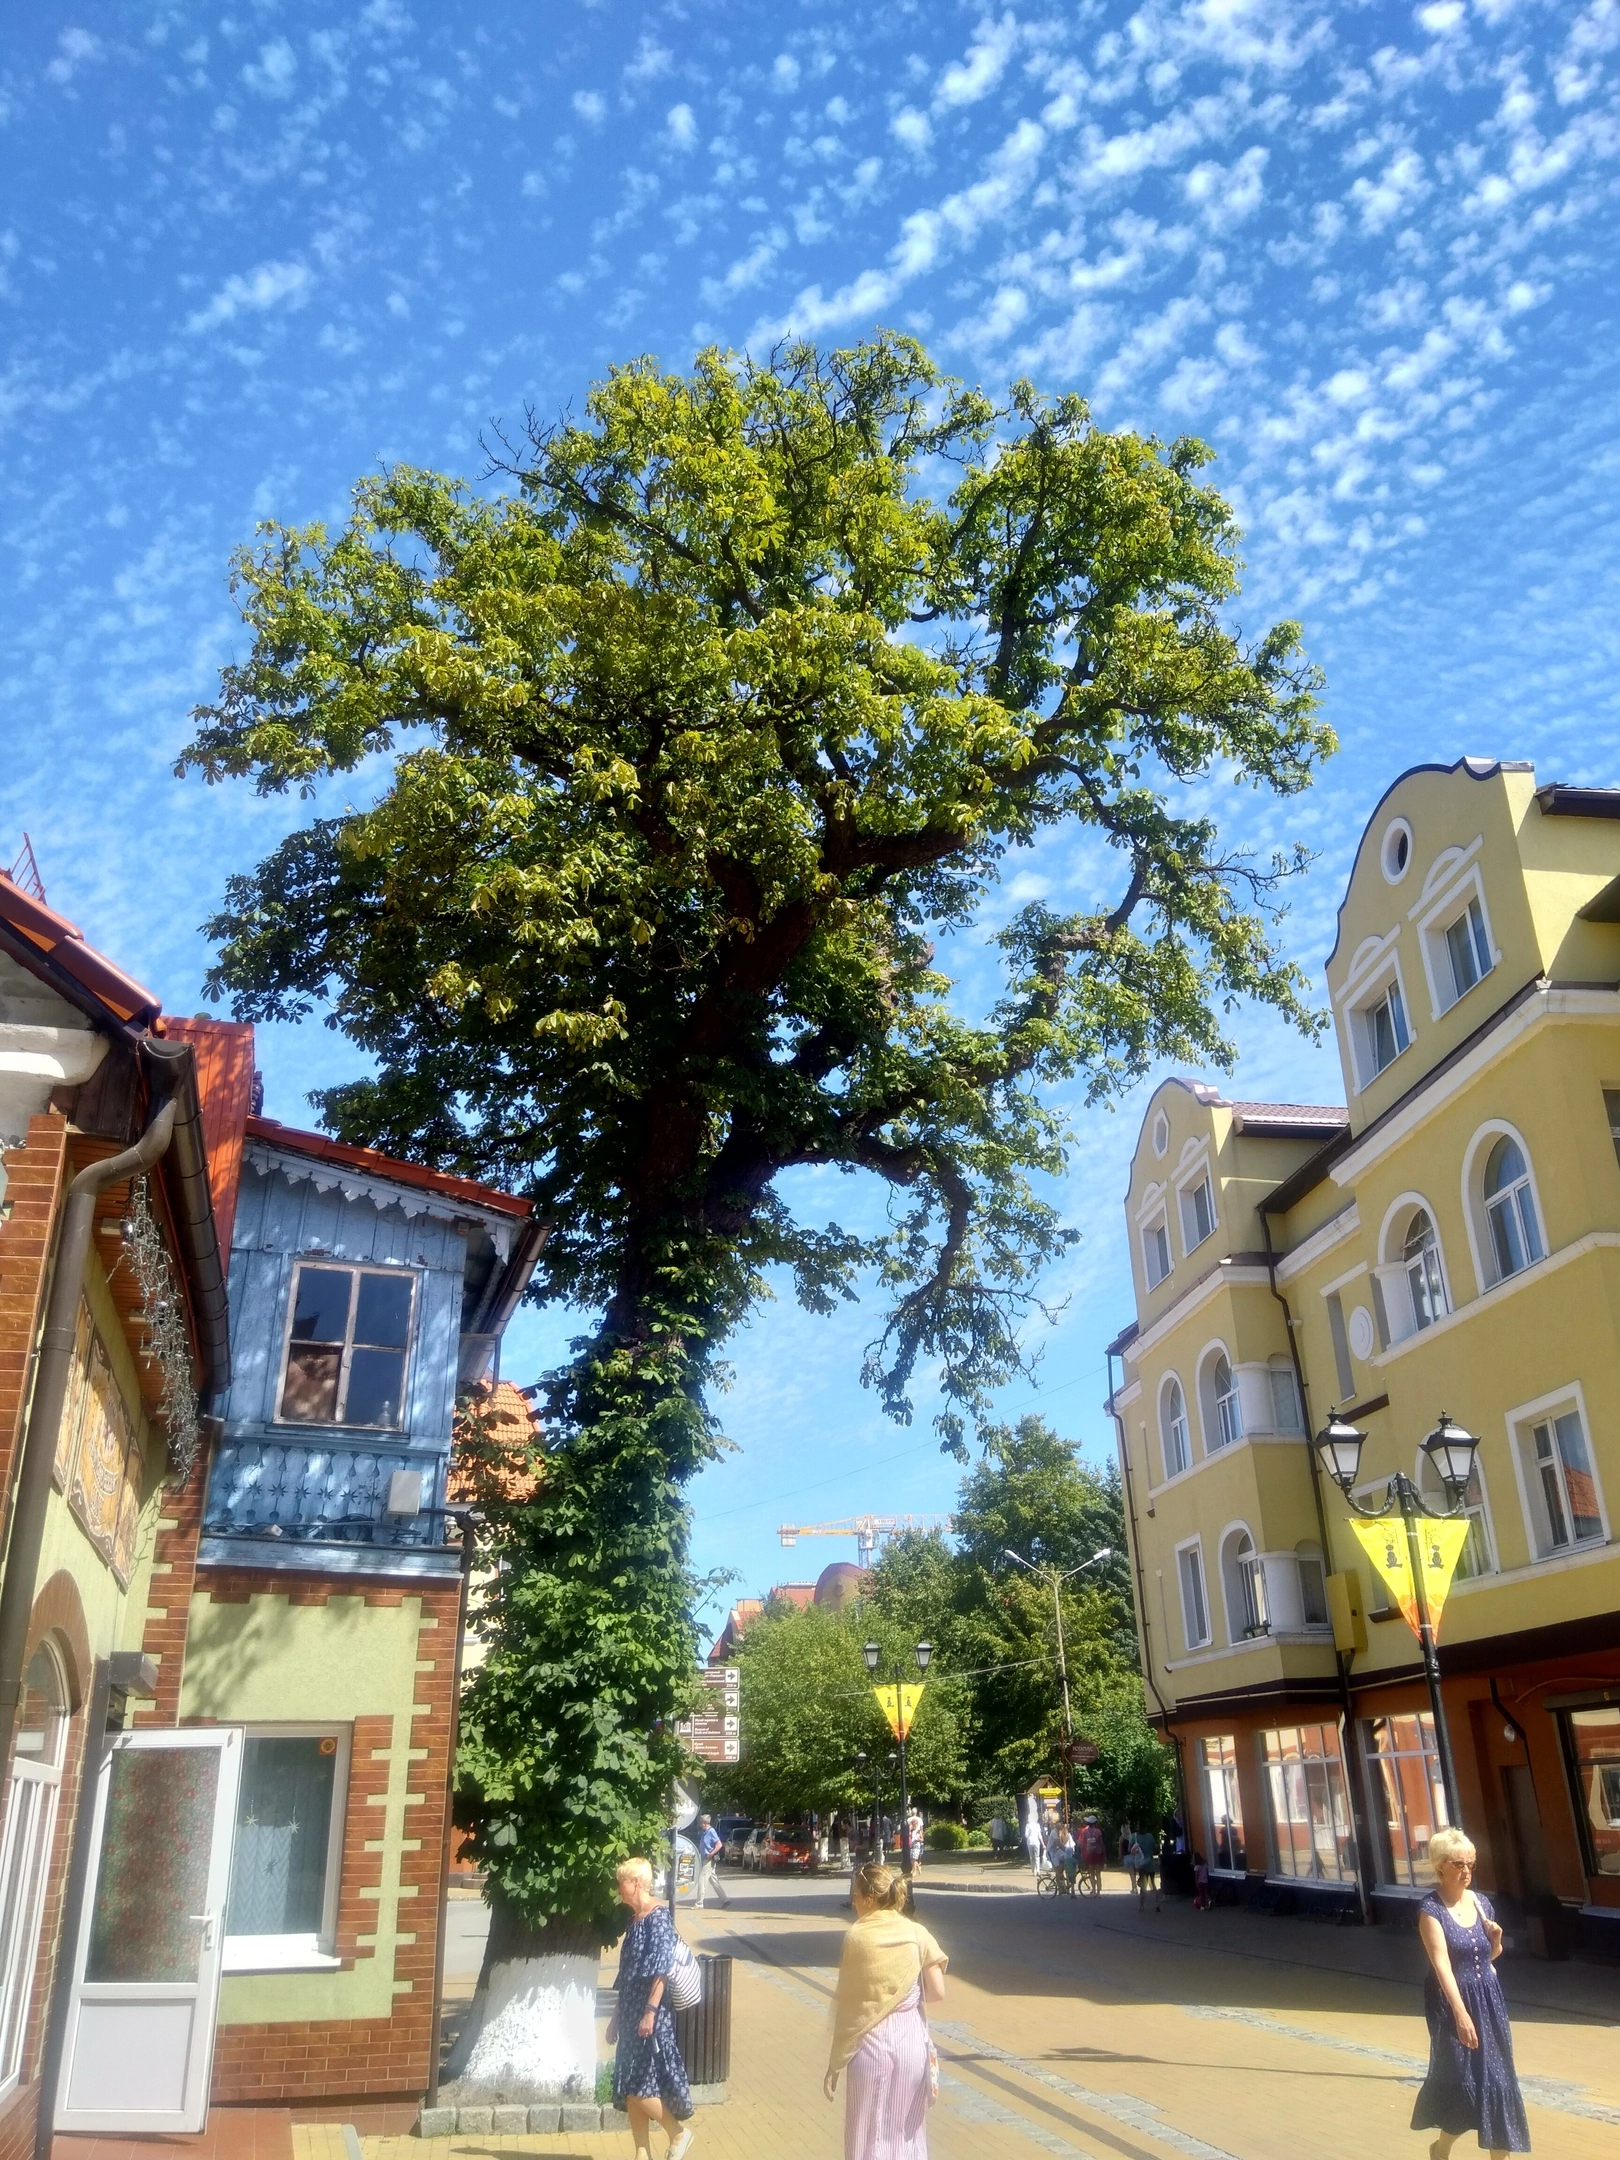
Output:
<svg viewBox="0 0 1620 2160">
<path fill-rule="evenodd" d="M 1326 966 L 1348 1110 L 1166 1080 L 1112 1352 L 1149 1711 L 1248 1896 L 1413 1899 L 1445 1819 L 1417 1642 L 1356 1497 L 1480 1436 L 1441 1670 L 1480 1879 L 1525 1946 L 1620 1950 L 1620 788 L 1415 767 Z M 1337 1635 L 1337 1642 L 1335 1642 Z"/>
</svg>

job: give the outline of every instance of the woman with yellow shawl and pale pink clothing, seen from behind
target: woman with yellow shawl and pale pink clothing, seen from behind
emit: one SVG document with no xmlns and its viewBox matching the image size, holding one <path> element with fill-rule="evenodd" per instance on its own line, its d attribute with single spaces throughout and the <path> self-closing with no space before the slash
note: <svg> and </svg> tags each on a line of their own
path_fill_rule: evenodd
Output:
<svg viewBox="0 0 1620 2160">
<path fill-rule="evenodd" d="M 905 1877 L 855 1868 L 855 1925 L 845 1935 L 832 2000 L 827 2100 L 849 2071 L 845 2160 L 929 2160 L 935 2056 L 924 2002 L 944 1998 L 946 1957 L 905 1918 Z"/>
</svg>

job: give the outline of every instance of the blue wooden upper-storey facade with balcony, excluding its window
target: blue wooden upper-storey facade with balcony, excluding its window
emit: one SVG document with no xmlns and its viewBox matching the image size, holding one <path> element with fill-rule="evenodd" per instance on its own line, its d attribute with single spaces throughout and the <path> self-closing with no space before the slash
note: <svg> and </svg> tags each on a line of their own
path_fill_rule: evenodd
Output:
<svg viewBox="0 0 1620 2160">
<path fill-rule="evenodd" d="M 454 1575 L 456 1391 L 484 1378 L 536 1251 L 529 1220 L 389 1177 L 387 1158 L 333 1162 L 330 1143 L 285 1128 L 276 1143 L 248 1138 L 231 1238 L 233 1378 L 199 1564 Z M 410 1285 L 404 1393 L 387 1426 L 289 1410 L 294 1285 L 300 1266 L 324 1264 Z"/>
</svg>

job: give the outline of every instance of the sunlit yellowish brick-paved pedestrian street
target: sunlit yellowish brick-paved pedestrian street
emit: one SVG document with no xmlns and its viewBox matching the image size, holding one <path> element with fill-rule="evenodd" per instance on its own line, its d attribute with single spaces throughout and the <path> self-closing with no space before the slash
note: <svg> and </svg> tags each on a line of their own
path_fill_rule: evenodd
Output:
<svg viewBox="0 0 1620 2160">
<path fill-rule="evenodd" d="M 821 2097 L 821 2071 L 842 1890 L 728 1886 L 730 1909 L 683 1914 L 696 1948 L 737 1959 L 730 2100 L 700 2110 L 693 2160 L 836 2160 L 842 2106 Z M 1123 1879 L 1074 1905 L 924 1884 L 918 1912 L 950 1953 L 933 2022 L 944 2071 L 933 2160 L 1421 2160 L 1428 2149 L 1406 2128 L 1426 2058 L 1415 1938 L 1179 1903 L 1138 1914 Z M 611 1972 L 609 1959 L 605 1983 Z M 1611 2160 L 1620 1972 L 1518 1959 L 1506 1979 L 1536 2154 Z M 629 2160 L 631 2149 L 622 2132 L 363 2143 L 367 2160 Z M 654 2151 L 661 2160 L 661 2141 Z"/>
</svg>

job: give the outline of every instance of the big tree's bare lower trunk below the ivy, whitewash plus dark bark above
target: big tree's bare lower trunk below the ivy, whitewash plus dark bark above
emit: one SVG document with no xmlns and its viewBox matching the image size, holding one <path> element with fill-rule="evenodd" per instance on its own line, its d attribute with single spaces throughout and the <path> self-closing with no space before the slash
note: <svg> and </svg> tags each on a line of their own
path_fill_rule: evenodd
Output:
<svg viewBox="0 0 1620 2160">
<path fill-rule="evenodd" d="M 488 2106 L 596 2097 L 596 1966 L 590 1927 L 529 1927 L 490 1892 L 490 1938 L 441 2100 Z"/>
</svg>

